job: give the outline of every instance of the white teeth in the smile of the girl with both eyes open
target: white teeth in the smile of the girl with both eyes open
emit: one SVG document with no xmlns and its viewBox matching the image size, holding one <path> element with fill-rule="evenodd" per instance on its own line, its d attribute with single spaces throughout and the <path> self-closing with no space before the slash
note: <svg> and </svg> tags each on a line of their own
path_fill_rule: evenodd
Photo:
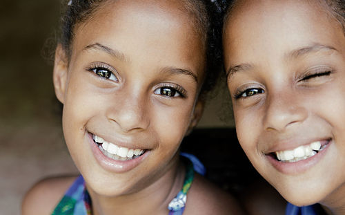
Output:
<svg viewBox="0 0 345 215">
<path fill-rule="evenodd" d="M 98 145 L 99 150 L 103 155 L 113 160 L 132 160 L 142 156 L 146 150 L 143 149 L 128 149 L 126 147 L 119 147 L 116 144 L 107 142 L 97 135 L 92 135 L 93 142 Z"/>
</svg>

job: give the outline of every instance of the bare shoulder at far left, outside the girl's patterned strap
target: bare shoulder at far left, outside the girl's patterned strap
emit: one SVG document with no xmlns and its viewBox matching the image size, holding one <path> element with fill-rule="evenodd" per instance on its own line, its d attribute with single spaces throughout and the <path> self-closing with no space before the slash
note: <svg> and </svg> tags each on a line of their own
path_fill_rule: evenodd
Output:
<svg viewBox="0 0 345 215">
<path fill-rule="evenodd" d="M 23 215 L 51 214 L 77 176 L 40 180 L 26 193 L 21 205 Z"/>
</svg>

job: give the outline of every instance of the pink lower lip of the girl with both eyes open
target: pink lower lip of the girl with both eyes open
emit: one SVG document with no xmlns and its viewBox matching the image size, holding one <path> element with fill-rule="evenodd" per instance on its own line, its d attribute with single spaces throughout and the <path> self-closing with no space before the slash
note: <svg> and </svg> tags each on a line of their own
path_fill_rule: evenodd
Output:
<svg viewBox="0 0 345 215">
<path fill-rule="evenodd" d="M 143 162 L 143 160 L 150 153 L 150 151 L 146 150 L 146 152 L 143 153 L 138 158 L 134 158 L 131 160 L 113 160 L 111 158 L 108 158 L 101 152 L 98 145 L 93 141 L 91 133 L 88 133 L 88 140 L 90 142 L 92 153 L 95 156 L 99 165 L 101 165 L 103 169 L 106 169 L 107 171 L 112 171 L 115 173 L 124 173 L 126 171 L 130 171 L 131 169 L 134 169 L 135 167 L 140 165 L 141 162 Z"/>
</svg>

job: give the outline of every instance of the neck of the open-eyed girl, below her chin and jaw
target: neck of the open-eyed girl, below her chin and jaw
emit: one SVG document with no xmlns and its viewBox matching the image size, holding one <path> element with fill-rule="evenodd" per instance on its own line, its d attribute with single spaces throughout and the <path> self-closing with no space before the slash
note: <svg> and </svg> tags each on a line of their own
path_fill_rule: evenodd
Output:
<svg viewBox="0 0 345 215">
<path fill-rule="evenodd" d="M 168 214 L 168 204 L 184 183 L 185 172 L 181 168 L 184 169 L 177 156 L 172 167 L 163 176 L 132 194 L 101 196 L 88 187 L 92 199 L 92 214 Z"/>
</svg>

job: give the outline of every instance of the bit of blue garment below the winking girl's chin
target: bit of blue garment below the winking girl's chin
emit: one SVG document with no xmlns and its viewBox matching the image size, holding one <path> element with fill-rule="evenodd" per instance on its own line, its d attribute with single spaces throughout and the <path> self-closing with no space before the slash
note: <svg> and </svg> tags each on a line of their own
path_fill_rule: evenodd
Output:
<svg viewBox="0 0 345 215">
<path fill-rule="evenodd" d="M 326 212 L 319 204 L 298 207 L 291 203 L 286 205 L 286 215 L 326 215 Z"/>
</svg>

